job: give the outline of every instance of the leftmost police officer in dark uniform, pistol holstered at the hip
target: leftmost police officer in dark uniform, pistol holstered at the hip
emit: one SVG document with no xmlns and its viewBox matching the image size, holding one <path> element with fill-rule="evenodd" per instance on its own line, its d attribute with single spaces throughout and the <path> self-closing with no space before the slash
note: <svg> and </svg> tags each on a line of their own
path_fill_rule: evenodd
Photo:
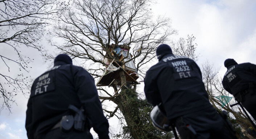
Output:
<svg viewBox="0 0 256 139">
<path fill-rule="evenodd" d="M 84 117 L 87 117 L 84 130 L 76 130 L 74 126 L 69 131 L 61 130 L 65 129 L 61 119 L 74 115 L 70 105 L 83 108 Z M 62 124 L 71 121 L 66 119 Z M 74 66 L 68 55 L 60 54 L 54 59 L 54 67 L 40 75 L 32 85 L 26 111 L 28 139 L 92 139 L 90 125 L 99 139 L 109 139 L 109 125 L 94 79 L 82 67 Z"/>
</svg>

